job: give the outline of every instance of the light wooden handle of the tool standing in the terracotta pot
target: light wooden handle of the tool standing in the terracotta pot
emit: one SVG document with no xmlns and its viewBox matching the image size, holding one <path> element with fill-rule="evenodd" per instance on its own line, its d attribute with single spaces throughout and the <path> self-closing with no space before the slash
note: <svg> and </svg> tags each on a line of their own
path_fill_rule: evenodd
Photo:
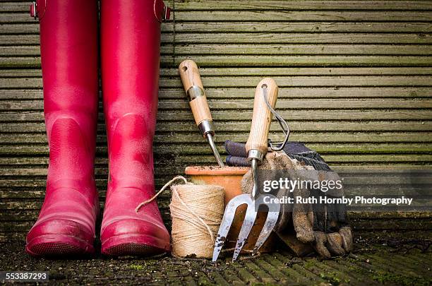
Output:
<svg viewBox="0 0 432 286">
<path fill-rule="evenodd" d="M 182 61 L 179 65 L 179 74 L 184 91 L 188 95 L 189 105 L 191 105 L 196 125 L 199 126 L 203 121 L 212 121 L 203 83 L 201 83 L 200 73 L 195 61 L 191 59 Z"/>
</svg>

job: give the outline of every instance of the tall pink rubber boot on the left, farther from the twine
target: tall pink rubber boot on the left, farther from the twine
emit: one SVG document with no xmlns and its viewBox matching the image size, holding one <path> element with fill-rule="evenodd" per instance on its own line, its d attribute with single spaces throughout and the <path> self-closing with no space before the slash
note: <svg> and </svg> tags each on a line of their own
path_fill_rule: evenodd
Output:
<svg viewBox="0 0 432 286">
<path fill-rule="evenodd" d="M 35 9 L 36 8 L 36 9 Z M 94 179 L 97 124 L 97 1 L 39 0 L 47 192 L 27 235 L 35 256 L 95 251 L 99 201 Z"/>
</svg>

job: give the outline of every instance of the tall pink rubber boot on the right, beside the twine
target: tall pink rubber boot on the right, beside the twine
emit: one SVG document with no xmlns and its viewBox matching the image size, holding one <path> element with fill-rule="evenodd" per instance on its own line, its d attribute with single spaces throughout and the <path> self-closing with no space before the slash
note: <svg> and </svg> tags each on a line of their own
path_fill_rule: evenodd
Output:
<svg viewBox="0 0 432 286">
<path fill-rule="evenodd" d="M 169 251 L 156 201 L 152 141 L 157 114 L 162 0 L 101 2 L 102 90 L 109 183 L 102 254 L 151 256 Z"/>
</svg>

